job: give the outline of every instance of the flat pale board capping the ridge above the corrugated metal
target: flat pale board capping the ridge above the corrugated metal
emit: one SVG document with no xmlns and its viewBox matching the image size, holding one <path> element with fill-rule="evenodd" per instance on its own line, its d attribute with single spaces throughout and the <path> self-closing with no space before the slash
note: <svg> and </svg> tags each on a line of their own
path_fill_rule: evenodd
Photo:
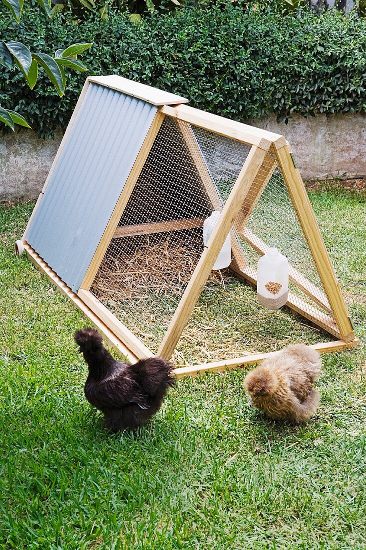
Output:
<svg viewBox="0 0 366 550">
<path fill-rule="evenodd" d="M 123 78 L 123 76 L 117 74 L 90 76 L 89 80 L 112 90 L 123 92 L 127 96 L 136 97 L 138 100 L 147 101 L 152 105 L 177 105 L 178 103 L 188 102 L 185 97 L 177 96 L 164 90 L 158 90 L 158 88 Z"/>
</svg>

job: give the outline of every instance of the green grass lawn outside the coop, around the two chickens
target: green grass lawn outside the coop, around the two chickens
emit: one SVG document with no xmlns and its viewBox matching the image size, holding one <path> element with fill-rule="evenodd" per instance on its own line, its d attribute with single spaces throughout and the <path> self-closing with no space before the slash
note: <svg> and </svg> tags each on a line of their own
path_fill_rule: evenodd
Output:
<svg viewBox="0 0 366 550">
<path fill-rule="evenodd" d="M 364 339 L 365 199 L 310 199 Z M 364 549 L 364 346 L 324 356 L 307 425 L 253 410 L 237 370 L 179 381 L 149 426 L 109 436 L 81 313 L 13 255 L 33 206 L 0 207 L 0 549 Z"/>
</svg>

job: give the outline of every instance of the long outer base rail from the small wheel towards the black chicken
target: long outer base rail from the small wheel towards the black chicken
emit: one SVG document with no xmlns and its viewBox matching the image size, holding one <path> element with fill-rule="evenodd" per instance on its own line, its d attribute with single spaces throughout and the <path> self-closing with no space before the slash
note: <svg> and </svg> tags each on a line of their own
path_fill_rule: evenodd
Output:
<svg viewBox="0 0 366 550">
<path fill-rule="evenodd" d="M 42 260 L 41 256 L 25 243 L 24 245 L 27 256 L 30 261 L 36 266 L 36 268 L 44 273 L 49 281 L 56 287 L 61 294 L 64 294 L 71 300 L 71 302 L 79 307 L 83 315 L 102 333 L 103 337 L 107 340 L 108 344 L 113 348 L 117 349 L 121 355 L 127 357 L 131 363 L 137 361 L 137 356 L 132 353 L 132 351 L 125 346 L 123 342 L 107 327 L 105 323 L 89 308 L 84 302 L 58 277 L 58 275 L 52 271 L 51 267 L 47 265 L 45 261 Z"/>
</svg>

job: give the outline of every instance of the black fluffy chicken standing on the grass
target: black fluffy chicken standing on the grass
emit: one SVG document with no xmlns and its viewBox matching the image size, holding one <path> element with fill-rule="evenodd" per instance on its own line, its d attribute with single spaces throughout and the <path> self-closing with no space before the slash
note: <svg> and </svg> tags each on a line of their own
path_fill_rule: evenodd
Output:
<svg viewBox="0 0 366 550">
<path fill-rule="evenodd" d="M 75 342 L 89 367 L 85 397 L 104 413 L 112 432 L 147 422 L 160 409 L 169 386 L 175 385 L 173 365 L 162 357 L 141 359 L 135 365 L 116 361 L 98 331 L 88 327 L 75 332 Z"/>
</svg>

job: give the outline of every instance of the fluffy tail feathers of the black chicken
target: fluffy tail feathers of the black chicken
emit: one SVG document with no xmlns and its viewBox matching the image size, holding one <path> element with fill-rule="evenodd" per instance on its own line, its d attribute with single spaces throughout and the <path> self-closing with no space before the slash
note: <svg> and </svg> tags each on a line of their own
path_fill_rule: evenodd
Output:
<svg viewBox="0 0 366 550">
<path fill-rule="evenodd" d="M 168 387 L 175 386 L 174 365 L 163 357 L 148 357 L 131 365 L 135 376 L 148 395 L 167 392 Z"/>
</svg>

